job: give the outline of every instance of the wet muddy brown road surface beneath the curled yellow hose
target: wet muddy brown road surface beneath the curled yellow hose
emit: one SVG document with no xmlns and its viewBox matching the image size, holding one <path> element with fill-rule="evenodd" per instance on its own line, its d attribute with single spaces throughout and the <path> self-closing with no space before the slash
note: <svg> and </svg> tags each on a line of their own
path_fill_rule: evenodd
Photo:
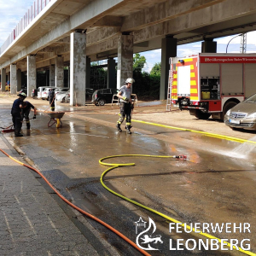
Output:
<svg viewBox="0 0 256 256">
<path fill-rule="evenodd" d="M 43 106 L 44 107 L 44 106 Z M 107 106 L 106 106 L 107 107 Z M 8 106 L 6 106 L 8 108 Z M 169 233 L 170 221 L 153 212 L 132 205 L 102 187 L 100 177 L 107 166 L 98 160 L 108 155 L 185 154 L 188 160 L 154 157 L 120 157 L 106 160 L 111 163 L 131 163 L 108 172 L 105 183 L 115 192 L 138 201 L 183 223 L 244 224 L 251 233 L 217 232 L 212 236 L 222 239 L 250 239 L 250 251 L 255 244 L 255 146 L 236 143 L 216 137 L 207 137 L 190 131 L 133 122 L 133 133 L 119 133 L 115 129 L 118 108 L 90 108 L 69 110 L 63 116 L 63 127 L 48 127 L 49 117 L 39 113 L 32 120 L 32 130 L 23 130 L 25 137 L 4 137 L 77 206 L 113 225 L 136 241 L 135 222 L 140 217 L 156 224 L 163 244 L 152 255 L 242 255 L 236 250 L 207 251 L 177 247 L 177 239 L 203 238 L 195 233 Z M 1 124 L 10 122 L 9 109 L 0 109 Z M 136 119 L 136 117 L 134 117 Z M 123 126 L 122 128 L 125 128 Z M 125 130 L 125 129 L 124 129 Z M 117 236 L 88 219 L 105 241 L 122 255 L 139 255 Z M 141 244 L 143 246 L 143 244 Z M 240 243 L 239 243 L 240 246 Z"/>
</svg>

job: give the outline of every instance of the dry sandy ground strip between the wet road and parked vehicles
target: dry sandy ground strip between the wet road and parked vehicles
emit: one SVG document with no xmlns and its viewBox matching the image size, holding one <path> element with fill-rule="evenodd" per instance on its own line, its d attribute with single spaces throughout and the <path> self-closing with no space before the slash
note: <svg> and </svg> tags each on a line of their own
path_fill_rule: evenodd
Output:
<svg viewBox="0 0 256 256">
<path fill-rule="evenodd" d="M 15 101 L 16 98 L 17 96 L 15 95 L 10 95 L 7 92 L 0 92 L 0 108 L 3 108 L 3 105 L 4 108 L 11 108 L 12 103 Z M 32 99 L 30 97 L 26 98 L 26 100 L 31 102 L 41 112 L 44 112 L 47 108 L 49 108 L 48 101 Z M 117 104 L 113 104 L 113 106 L 111 104 L 106 104 L 105 106 L 95 106 L 90 102 L 86 102 L 86 105 L 82 107 L 72 107 L 69 105 L 69 103 L 55 102 L 55 110 L 72 110 L 74 112 L 84 111 L 84 114 L 86 114 L 86 112 L 95 112 L 106 114 L 113 113 L 118 115 L 119 113 L 119 107 L 117 106 Z M 236 137 L 246 140 L 256 139 L 256 131 L 233 131 L 232 129 L 230 129 L 230 127 L 224 125 L 224 123 L 219 121 L 218 119 L 196 119 L 195 116 L 189 114 L 189 111 L 180 111 L 178 108 L 172 108 L 171 111 L 166 111 L 166 101 L 139 101 L 138 104 L 135 104 L 132 119 L 138 119 L 162 125 L 170 125 L 179 128 L 186 128 L 195 131 L 206 131 L 214 134 L 224 135 L 228 137 Z M 136 128 L 135 122 L 133 123 L 133 127 Z"/>
</svg>

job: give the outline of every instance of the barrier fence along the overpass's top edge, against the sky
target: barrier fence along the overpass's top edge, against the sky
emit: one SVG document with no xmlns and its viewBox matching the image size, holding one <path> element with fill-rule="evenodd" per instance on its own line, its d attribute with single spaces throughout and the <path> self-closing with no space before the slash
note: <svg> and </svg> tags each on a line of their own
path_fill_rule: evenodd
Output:
<svg viewBox="0 0 256 256">
<path fill-rule="evenodd" d="M 32 22 L 32 20 L 38 16 L 38 14 L 46 7 L 49 2 L 50 0 L 36 0 L 32 4 L 31 8 L 27 10 L 24 17 L 20 20 L 15 29 L 10 33 L 7 40 L 1 46 L 0 56 L 3 54 L 5 49 L 7 49 L 9 45 L 15 41 L 15 38 L 17 38 L 20 33 L 25 30 L 26 26 L 28 26 Z"/>
</svg>

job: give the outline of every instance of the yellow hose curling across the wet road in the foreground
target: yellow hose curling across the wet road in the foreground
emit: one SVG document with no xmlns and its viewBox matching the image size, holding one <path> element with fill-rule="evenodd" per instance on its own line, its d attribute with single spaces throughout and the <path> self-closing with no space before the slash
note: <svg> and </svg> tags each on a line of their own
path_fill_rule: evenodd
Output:
<svg viewBox="0 0 256 256">
<path fill-rule="evenodd" d="M 125 197 L 124 195 L 120 195 L 119 193 L 113 191 L 112 189 L 109 189 L 108 186 L 103 182 L 103 177 L 110 171 L 112 171 L 113 169 L 115 168 L 118 168 L 118 167 L 121 167 L 121 166 L 135 166 L 135 163 L 128 163 L 128 164 L 110 164 L 110 163 L 105 163 L 103 162 L 103 160 L 106 160 L 106 159 L 110 159 L 110 158 L 115 158 L 115 157 L 157 157 L 157 158 L 177 158 L 175 155 L 173 156 L 170 156 L 170 155 L 149 155 L 149 154 L 119 154 L 119 155 L 111 155 L 111 156 L 107 156 L 107 157 L 104 157 L 102 159 L 99 160 L 99 163 L 103 166 L 111 166 L 110 168 L 108 168 L 105 172 L 102 172 L 102 176 L 101 176 L 101 183 L 102 183 L 102 186 L 105 188 L 105 189 L 108 189 L 109 192 L 111 192 L 113 195 L 117 195 L 119 196 L 120 198 L 124 199 L 125 201 L 130 201 L 132 204 L 135 204 L 137 205 L 138 207 L 143 207 L 144 209 L 150 211 L 150 212 L 154 212 L 155 214 L 163 217 L 163 218 L 166 218 L 167 220 L 173 222 L 173 223 L 177 223 L 177 224 L 180 224 L 181 226 L 185 227 L 186 224 L 183 224 L 181 221 L 178 221 L 177 219 L 175 218 L 171 218 L 169 216 L 167 216 L 166 214 L 162 213 L 162 212 L 158 212 L 150 207 L 146 207 L 144 206 L 143 204 L 137 202 L 137 201 L 133 201 L 131 200 L 130 198 L 127 198 Z M 190 229 L 190 226 L 186 225 L 186 229 L 187 230 L 191 230 Z M 193 228 L 192 229 L 194 232 L 195 232 L 195 229 Z M 197 231 L 200 231 L 200 230 L 197 230 Z M 197 232 L 198 233 L 198 232 Z M 218 241 L 221 242 L 221 240 L 218 238 L 218 237 L 215 237 L 215 236 L 212 236 L 212 235 L 209 235 L 207 233 L 203 233 L 200 231 L 200 234 L 201 236 L 205 236 L 207 238 L 210 238 L 210 239 L 217 239 Z M 227 241 L 224 241 L 224 244 L 228 247 L 231 247 L 230 243 L 227 242 Z M 234 249 L 236 249 L 235 246 L 233 246 Z M 241 253 L 245 253 L 247 255 L 251 255 L 251 256 L 256 256 L 256 253 L 252 253 L 250 251 L 245 251 L 243 249 L 241 249 L 241 247 L 238 247 L 239 248 L 239 251 Z"/>
</svg>

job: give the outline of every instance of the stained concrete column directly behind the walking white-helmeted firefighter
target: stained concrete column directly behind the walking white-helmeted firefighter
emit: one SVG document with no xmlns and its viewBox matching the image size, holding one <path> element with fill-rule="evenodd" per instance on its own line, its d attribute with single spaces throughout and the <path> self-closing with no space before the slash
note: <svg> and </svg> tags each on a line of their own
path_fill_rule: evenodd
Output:
<svg viewBox="0 0 256 256">
<path fill-rule="evenodd" d="M 118 43 L 117 88 L 125 84 L 127 78 L 132 78 L 133 36 L 121 35 Z"/>
</svg>

